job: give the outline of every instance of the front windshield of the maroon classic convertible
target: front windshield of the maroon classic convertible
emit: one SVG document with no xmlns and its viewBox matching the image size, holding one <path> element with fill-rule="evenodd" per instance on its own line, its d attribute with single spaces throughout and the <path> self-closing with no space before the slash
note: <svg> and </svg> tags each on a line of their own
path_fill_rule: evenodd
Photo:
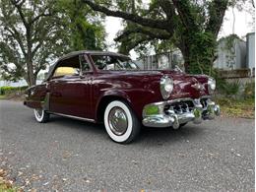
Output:
<svg viewBox="0 0 256 192">
<path fill-rule="evenodd" d="M 129 57 L 113 55 L 91 55 L 99 70 L 139 70 L 139 67 Z"/>
</svg>

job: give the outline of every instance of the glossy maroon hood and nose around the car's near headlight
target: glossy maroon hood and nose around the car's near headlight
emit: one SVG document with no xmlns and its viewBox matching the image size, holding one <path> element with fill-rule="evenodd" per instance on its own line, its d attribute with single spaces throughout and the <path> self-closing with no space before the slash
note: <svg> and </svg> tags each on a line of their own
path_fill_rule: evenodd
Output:
<svg viewBox="0 0 256 192">
<path fill-rule="evenodd" d="M 112 76 L 117 80 L 129 80 L 134 82 L 138 88 L 151 90 L 155 96 L 161 100 L 160 78 L 167 76 L 173 80 L 173 91 L 168 99 L 208 95 L 208 76 L 189 75 L 173 70 L 141 70 L 141 71 L 108 71 L 107 76 Z M 196 89 L 194 85 L 201 85 L 202 89 Z"/>
</svg>

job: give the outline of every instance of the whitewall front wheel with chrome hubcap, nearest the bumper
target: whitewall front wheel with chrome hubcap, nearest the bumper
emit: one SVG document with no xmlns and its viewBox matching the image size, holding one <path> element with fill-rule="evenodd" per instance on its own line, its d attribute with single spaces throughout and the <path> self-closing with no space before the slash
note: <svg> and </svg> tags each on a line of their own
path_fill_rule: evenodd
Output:
<svg viewBox="0 0 256 192">
<path fill-rule="evenodd" d="M 104 125 L 108 136 L 117 143 L 129 143 L 140 133 L 141 125 L 132 109 L 123 101 L 108 103 L 104 111 Z"/>
</svg>

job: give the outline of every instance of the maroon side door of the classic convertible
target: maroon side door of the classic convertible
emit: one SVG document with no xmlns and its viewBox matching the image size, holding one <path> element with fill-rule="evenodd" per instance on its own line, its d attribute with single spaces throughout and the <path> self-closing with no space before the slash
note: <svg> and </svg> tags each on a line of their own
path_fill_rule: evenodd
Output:
<svg viewBox="0 0 256 192">
<path fill-rule="evenodd" d="M 50 87 L 50 111 L 71 115 L 82 118 L 92 118 L 91 99 L 92 99 L 92 76 L 91 69 L 84 74 L 80 73 L 80 57 L 70 60 L 75 62 L 73 67 L 79 66 L 78 74 L 68 74 L 59 78 L 52 78 L 49 82 Z M 69 62 L 65 62 L 69 63 Z M 61 63 L 59 67 L 61 67 Z M 66 66 L 66 64 L 64 65 Z M 76 68 L 77 69 L 77 68 Z"/>
</svg>

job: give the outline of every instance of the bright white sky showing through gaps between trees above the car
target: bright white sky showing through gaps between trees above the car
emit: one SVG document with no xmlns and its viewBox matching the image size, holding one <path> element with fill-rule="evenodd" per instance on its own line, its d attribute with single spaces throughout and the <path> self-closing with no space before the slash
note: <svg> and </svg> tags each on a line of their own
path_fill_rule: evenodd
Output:
<svg viewBox="0 0 256 192">
<path fill-rule="evenodd" d="M 252 26 L 252 16 L 246 11 L 238 11 L 234 9 L 235 23 L 234 23 L 234 33 L 244 39 L 246 33 L 255 32 Z M 116 32 L 122 30 L 121 19 L 114 17 L 106 17 L 105 21 L 105 31 L 107 33 L 106 42 L 108 45 L 112 45 L 108 48 L 109 51 L 116 51 L 116 47 L 113 46 L 114 37 Z M 232 23 L 233 14 L 232 9 L 229 8 L 225 11 L 224 23 L 221 32 L 219 33 L 219 38 L 232 33 Z M 136 59 L 137 54 L 132 50 L 130 52 L 132 59 Z"/>
</svg>

